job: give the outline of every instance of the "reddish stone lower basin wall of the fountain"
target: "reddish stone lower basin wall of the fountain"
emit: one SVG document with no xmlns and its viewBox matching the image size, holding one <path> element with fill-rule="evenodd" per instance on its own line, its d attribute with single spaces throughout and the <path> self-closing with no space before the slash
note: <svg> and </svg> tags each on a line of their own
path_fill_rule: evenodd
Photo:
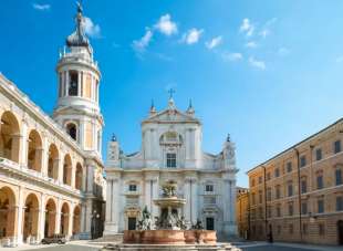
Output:
<svg viewBox="0 0 343 251">
<path fill-rule="evenodd" d="M 217 234 L 214 230 L 124 230 L 123 242 L 137 244 L 215 244 L 217 243 Z"/>
</svg>

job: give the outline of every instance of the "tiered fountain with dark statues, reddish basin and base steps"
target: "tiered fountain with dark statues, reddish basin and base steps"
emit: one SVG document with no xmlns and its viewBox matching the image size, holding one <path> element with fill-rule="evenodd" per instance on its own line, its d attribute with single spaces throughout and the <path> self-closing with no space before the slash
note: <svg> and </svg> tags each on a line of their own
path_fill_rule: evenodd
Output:
<svg viewBox="0 0 343 251">
<path fill-rule="evenodd" d="M 215 230 L 204 230 L 200 220 L 187 228 L 180 208 L 186 200 L 177 197 L 177 186 L 168 181 L 162 186 L 162 197 L 154 200 L 159 217 L 152 219 L 147 207 L 142 211 L 137 230 L 124 230 L 123 244 L 107 245 L 104 250 L 237 250 L 230 244 L 217 244 Z"/>
</svg>

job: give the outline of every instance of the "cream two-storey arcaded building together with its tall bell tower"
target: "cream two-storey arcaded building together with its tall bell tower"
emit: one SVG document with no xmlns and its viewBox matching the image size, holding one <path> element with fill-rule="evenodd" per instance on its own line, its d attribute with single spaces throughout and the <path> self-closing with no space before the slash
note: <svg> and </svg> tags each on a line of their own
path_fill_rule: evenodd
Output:
<svg viewBox="0 0 343 251">
<path fill-rule="evenodd" d="M 100 236 L 104 221 L 100 71 L 76 28 L 60 55 L 58 103 L 48 116 L 0 74 L 0 240 L 2 244 Z"/>
</svg>

